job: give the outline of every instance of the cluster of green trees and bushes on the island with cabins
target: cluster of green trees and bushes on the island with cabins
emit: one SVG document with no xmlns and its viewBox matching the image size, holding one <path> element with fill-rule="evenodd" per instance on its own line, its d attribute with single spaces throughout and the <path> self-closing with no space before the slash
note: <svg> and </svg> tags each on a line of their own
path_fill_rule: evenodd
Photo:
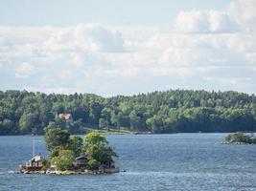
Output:
<svg viewBox="0 0 256 191">
<path fill-rule="evenodd" d="M 117 157 L 105 136 L 96 132 L 87 134 L 83 139 L 79 136 L 71 137 L 67 130 L 50 123 L 45 129 L 44 138 L 49 152 L 49 162 L 43 163 L 45 168 L 56 165 L 59 171 L 74 170 L 75 159 L 85 156 L 88 169 L 97 170 L 100 164 L 113 162 L 112 158 Z"/>
</svg>

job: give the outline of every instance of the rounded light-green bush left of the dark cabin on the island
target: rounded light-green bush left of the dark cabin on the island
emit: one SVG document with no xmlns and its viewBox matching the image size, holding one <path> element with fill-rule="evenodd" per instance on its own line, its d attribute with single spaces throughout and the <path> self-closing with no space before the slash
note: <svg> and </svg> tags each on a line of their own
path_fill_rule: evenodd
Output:
<svg viewBox="0 0 256 191">
<path fill-rule="evenodd" d="M 71 170 L 75 160 L 75 153 L 71 150 L 59 150 L 58 157 L 51 159 L 51 163 L 55 164 L 60 171 Z"/>
</svg>

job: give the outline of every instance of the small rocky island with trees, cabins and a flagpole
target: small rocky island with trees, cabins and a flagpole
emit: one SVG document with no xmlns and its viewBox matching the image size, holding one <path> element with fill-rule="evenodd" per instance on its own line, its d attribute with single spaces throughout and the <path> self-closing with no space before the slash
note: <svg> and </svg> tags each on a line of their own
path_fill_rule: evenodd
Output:
<svg viewBox="0 0 256 191">
<path fill-rule="evenodd" d="M 118 157 L 109 146 L 105 136 L 91 132 L 82 139 L 70 136 L 55 123 L 45 129 L 45 142 L 48 159 L 36 155 L 26 165 L 19 165 L 24 174 L 108 174 L 117 173 L 113 157 Z"/>
</svg>

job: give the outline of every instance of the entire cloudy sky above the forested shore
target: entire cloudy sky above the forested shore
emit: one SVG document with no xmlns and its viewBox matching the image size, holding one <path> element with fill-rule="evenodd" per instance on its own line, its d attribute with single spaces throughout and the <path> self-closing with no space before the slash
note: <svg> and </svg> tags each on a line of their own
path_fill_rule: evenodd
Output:
<svg viewBox="0 0 256 191">
<path fill-rule="evenodd" d="M 256 93 L 255 0 L 0 3 L 0 90 Z"/>
</svg>

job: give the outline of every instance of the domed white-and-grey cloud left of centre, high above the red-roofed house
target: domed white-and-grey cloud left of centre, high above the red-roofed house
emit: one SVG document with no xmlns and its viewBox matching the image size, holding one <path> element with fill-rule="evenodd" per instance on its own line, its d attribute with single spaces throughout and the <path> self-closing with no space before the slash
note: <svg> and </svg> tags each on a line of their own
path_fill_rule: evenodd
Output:
<svg viewBox="0 0 256 191">
<path fill-rule="evenodd" d="M 79 24 L 62 28 L 44 43 L 45 50 L 83 52 L 123 52 L 124 40 L 120 32 L 112 32 L 100 24 Z"/>
</svg>

